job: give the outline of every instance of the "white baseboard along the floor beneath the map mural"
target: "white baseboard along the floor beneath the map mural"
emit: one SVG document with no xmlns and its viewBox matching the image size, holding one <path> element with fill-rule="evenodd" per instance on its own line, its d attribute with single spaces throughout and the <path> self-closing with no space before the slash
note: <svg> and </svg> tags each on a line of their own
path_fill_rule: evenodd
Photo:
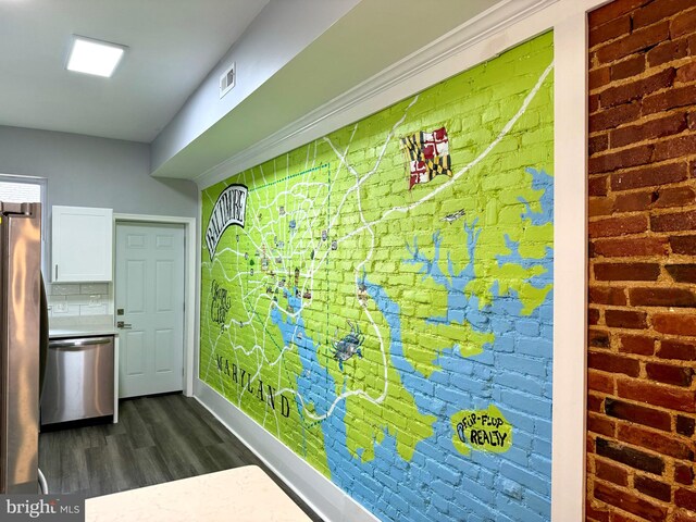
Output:
<svg viewBox="0 0 696 522">
<path fill-rule="evenodd" d="M 194 397 L 326 522 L 378 522 L 365 508 L 199 378 L 194 382 Z"/>
</svg>

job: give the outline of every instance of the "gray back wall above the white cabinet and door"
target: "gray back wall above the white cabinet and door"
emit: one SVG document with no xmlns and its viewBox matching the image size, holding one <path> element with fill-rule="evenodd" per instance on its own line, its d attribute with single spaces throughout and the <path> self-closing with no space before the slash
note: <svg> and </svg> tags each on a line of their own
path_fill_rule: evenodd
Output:
<svg viewBox="0 0 696 522">
<path fill-rule="evenodd" d="M 0 126 L 0 174 L 48 178 L 48 206 L 114 212 L 197 215 L 192 182 L 158 179 L 150 146 L 134 141 Z"/>
</svg>

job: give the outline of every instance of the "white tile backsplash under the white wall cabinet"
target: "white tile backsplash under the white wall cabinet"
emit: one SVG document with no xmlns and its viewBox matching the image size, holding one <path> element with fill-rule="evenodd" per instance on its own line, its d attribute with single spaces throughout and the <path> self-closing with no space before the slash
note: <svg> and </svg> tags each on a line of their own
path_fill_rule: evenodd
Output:
<svg viewBox="0 0 696 522">
<path fill-rule="evenodd" d="M 111 283 L 54 283 L 46 290 L 51 318 L 113 314 Z"/>
</svg>

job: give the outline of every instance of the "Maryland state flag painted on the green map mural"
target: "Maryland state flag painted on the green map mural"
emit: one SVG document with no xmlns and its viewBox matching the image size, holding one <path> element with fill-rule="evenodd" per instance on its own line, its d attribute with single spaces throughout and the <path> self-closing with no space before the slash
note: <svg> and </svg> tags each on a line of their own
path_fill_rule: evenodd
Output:
<svg viewBox="0 0 696 522">
<path fill-rule="evenodd" d="M 401 148 L 409 163 L 409 190 L 413 185 L 427 183 L 438 174 L 451 177 L 452 164 L 449 158 L 449 139 L 445 127 L 432 133 L 421 130 L 401 138 Z"/>
</svg>

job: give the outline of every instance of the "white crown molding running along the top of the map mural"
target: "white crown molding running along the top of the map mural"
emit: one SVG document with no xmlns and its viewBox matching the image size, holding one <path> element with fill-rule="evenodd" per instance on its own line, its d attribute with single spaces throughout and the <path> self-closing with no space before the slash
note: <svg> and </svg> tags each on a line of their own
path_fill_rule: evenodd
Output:
<svg viewBox="0 0 696 522">
<path fill-rule="evenodd" d="M 508 42 L 502 39 L 498 45 L 492 45 L 486 54 L 477 57 L 477 61 L 473 63 L 457 59 L 471 47 L 492 39 L 508 27 L 558 1 L 505 0 L 497 3 L 365 82 L 271 134 L 252 147 L 195 176 L 192 179 L 200 189 L 214 185 L 259 163 L 320 138 L 344 125 L 365 117 L 388 107 L 389 103 L 394 103 L 463 71 L 468 66 L 489 60 L 521 41 Z M 502 47 L 498 48 L 500 45 Z M 459 69 L 435 71 L 437 65 L 453 60 L 461 65 Z M 384 95 L 389 92 L 397 97 L 390 97 L 390 101 L 384 101 Z"/>
</svg>

